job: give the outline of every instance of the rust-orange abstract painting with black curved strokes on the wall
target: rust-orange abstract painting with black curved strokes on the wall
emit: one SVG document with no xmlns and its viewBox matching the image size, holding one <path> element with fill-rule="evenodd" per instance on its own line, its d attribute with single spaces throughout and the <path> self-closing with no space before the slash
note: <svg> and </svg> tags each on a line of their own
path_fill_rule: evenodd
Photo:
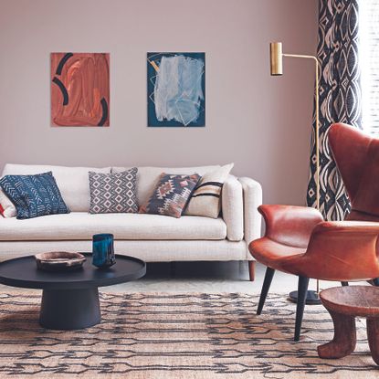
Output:
<svg viewBox="0 0 379 379">
<path fill-rule="evenodd" d="M 110 126 L 110 55 L 51 53 L 51 125 Z"/>
</svg>

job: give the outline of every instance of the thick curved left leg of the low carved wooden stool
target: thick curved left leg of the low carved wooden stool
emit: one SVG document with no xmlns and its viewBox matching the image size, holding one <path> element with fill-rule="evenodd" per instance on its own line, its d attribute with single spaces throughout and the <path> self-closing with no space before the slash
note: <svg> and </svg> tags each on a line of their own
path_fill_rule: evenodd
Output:
<svg viewBox="0 0 379 379">
<path fill-rule="evenodd" d="M 353 353 L 356 344 L 355 318 L 328 310 L 334 324 L 334 337 L 331 342 L 317 348 L 320 358 L 342 358 Z M 379 342 L 379 341 L 378 341 Z"/>
</svg>

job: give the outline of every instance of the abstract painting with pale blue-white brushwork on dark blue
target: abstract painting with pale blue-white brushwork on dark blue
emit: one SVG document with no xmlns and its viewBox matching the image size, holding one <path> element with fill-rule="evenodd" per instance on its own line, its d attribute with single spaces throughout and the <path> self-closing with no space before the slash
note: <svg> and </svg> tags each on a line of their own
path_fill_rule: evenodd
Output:
<svg viewBox="0 0 379 379">
<path fill-rule="evenodd" d="M 147 96 L 149 126 L 205 126 L 205 53 L 148 53 Z"/>
</svg>

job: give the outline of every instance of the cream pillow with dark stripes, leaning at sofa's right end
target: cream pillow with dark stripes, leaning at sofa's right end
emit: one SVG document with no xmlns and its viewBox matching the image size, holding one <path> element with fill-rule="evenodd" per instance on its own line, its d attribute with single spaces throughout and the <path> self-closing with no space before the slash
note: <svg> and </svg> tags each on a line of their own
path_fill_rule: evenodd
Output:
<svg viewBox="0 0 379 379">
<path fill-rule="evenodd" d="M 221 191 L 234 163 L 226 164 L 203 175 L 185 210 L 188 216 L 217 218 L 221 210 Z"/>
</svg>

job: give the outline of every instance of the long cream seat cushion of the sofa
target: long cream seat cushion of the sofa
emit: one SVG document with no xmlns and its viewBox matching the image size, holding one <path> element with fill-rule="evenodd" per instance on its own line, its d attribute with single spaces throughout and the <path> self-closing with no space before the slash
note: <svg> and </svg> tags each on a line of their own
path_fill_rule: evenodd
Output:
<svg viewBox="0 0 379 379">
<path fill-rule="evenodd" d="M 73 212 L 28 220 L 0 217 L 0 241 L 87 240 L 98 233 L 112 233 L 115 239 L 131 240 L 225 239 L 226 224 L 222 218 L 121 213 Z"/>
</svg>

